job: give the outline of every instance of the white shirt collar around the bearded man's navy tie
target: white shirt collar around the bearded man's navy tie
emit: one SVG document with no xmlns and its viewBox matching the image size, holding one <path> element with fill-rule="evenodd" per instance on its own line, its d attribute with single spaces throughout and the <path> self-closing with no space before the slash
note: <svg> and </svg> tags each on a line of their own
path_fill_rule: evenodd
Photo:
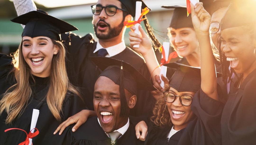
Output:
<svg viewBox="0 0 256 145">
<path fill-rule="evenodd" d="M 99 42 L 97 42 L 96 45 L 96 49 L 93 51 L 93 53 L 97 52 L 98 50 L 100 50 L 101 48 L 103 48 Z M 105 48 L 108 52 L 108 54 L 105 57 L 112 57 L 115 56 L 119 53 L 121 53 L 122 51 L 124 51 L 124 49 L 126 48 L 124 41 L 122 41 L 119 44 L 116 44 L 114 46 L 110 46 Z"/>
</svg>

